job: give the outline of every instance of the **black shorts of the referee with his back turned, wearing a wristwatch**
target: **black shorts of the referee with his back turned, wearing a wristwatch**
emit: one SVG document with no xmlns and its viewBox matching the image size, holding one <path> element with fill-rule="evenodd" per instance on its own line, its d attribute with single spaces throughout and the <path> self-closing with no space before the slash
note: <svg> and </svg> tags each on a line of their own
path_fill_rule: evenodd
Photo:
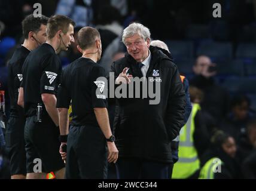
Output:
<svg viewBox="0 0 256 191">
<path fill-rule="evenodd" d="M 99 127 L 69 128 L 66 178 L 105 179 L 107 177 L 106 140 Z"/>
</svg>

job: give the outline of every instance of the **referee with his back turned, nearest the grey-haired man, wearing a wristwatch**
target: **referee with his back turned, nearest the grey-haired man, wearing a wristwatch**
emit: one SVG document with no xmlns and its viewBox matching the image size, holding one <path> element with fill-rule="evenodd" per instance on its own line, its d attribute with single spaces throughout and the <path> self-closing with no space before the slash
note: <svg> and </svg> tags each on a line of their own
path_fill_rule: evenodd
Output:
<svg viewBox="0 0 256 191">
<path fill-rule="evenodd" d="M 67 144 L 67 152 L 61 147 L 60 153 L 66 159 L 66 178 L 106 178 L 107 159 L 115 163 L 118 150 L 109 125 L 106 95 L 100 94 L 106 84 L 97 80 L 105 76 L 103 67 L 96 64 L 102 53 L 99 32 L 92 27 L 80 29 L 78 50 L 83 56 L 63 71 L 57 94 L 62 146 Z M 68 130 L 71 100 L 73 119 Z"/>
</svg>

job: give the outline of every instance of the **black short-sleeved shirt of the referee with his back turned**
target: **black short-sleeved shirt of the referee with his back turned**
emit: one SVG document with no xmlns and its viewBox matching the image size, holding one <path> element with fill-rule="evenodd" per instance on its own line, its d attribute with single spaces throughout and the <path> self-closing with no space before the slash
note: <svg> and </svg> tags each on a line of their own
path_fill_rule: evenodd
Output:
<svg viewBox="0 0 256 191">
<path fill-rule="evenodd" d="M 105 95 L 96 95 L 96 89 L 106 88 L 96 79 L 105 76 L 103 67 L 89 58 L 78 58 L 63 70 L 57 94 L 57 107 L 69 108 L 72 100 L 71 125 L 96 125 L 94 107 L 106 107 Z M 103 89 L 102 89 L 103 90 Z"/>
</svg>

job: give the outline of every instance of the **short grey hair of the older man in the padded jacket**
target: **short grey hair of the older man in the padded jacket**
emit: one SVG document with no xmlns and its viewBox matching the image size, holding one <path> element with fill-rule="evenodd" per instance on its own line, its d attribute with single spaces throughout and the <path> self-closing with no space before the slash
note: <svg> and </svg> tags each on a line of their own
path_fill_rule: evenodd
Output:
<svg viewBox="0 0 256 191">
<path fill-rule="evenodd" d="M 141 36 L 141 38 L 146 41 L 148 38 L 150 38 L 150 29 L 145 27 L 143 24 L 140 23 L 132 23 L 129 26 L 127 26 L 123 31 L 122 41 L 124 44 L 126 38 L 129 38 L 135 34 L 138 34 Z"/>
</svg>

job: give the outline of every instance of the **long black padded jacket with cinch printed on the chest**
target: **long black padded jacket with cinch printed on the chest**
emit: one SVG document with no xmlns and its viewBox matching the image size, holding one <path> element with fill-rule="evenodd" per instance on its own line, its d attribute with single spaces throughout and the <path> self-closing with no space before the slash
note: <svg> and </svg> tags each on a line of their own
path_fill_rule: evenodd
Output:
<svg viewBox="0 0 256 191">
<path fill-rule="evenodd" d="M 149 104 L 149 98 L 118 98 L 115 112 L 116 118 L 120 116 L 120 123 L 114 122 L 116 144 L 120 157 L 169 163 L 172 162 L 170 141 L 179 134 L 184 123 L 185 93 L 176 65 L 156 47 L 150 47 L 150 51 L 146 78 L 153 76 L 153 70 L 159 70 L 160 103 Z M 124 67 L 129 67 L 133 77 L 142 76 L 138 63 L 127 53 L 112 63 L 115 78 Z"/>
</svg>

